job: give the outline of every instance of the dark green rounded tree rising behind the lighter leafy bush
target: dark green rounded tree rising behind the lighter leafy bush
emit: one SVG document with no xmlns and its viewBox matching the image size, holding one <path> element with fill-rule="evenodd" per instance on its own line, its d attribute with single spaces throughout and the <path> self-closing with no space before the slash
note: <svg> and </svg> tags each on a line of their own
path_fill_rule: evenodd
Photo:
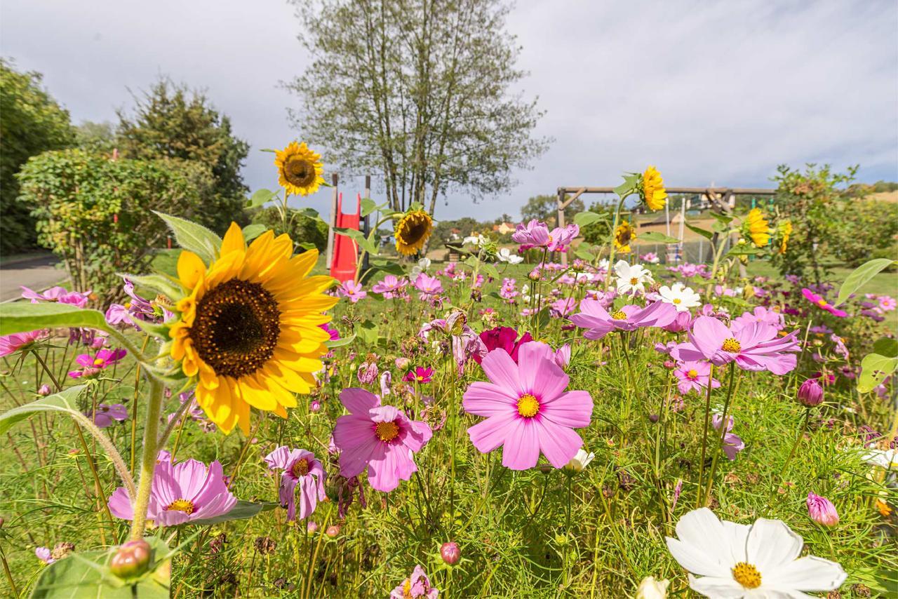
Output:
<svg viewBox="0 0 898 599">
<path fill-rule="evenodd" d="M 142 98 L 133 117 L 119 110 L 119 150 L 126 158 L 177 158 L 203 164 L 215 185 L 200 198 L 195 217 L 224 233 L 232 220 L 245 222 L 247 187 L 240 169 L 250 145 L 233 136 L 231 119 L 202 92 L 162 78 Z"/>
</svg>

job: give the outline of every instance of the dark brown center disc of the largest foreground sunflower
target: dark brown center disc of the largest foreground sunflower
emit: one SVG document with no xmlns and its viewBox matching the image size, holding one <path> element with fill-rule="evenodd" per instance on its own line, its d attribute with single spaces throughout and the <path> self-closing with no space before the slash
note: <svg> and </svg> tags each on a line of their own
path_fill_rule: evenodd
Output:
<svg viewBox="0 0 898 599">
<path fill-rule="evenodd" d="M 216 374 L 239 378 L 274 355 L 279 319 L 277 301 L 265 287 L 232 278 L 199 300 L 190 339 Z"/>
</svg>

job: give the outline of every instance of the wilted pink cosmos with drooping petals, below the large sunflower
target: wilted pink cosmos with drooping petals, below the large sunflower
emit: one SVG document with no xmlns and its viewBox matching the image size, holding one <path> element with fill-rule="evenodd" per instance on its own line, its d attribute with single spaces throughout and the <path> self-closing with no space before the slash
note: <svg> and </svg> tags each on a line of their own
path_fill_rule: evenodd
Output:
<svg viewBox="0 0 898 599">
<path fill-rule="evenodd" d="M 315 511 L 318 502 L 326 498 L 324 480 L 327 474 L 315 454 L 304 449 L 290 449 L 285 445 L 265 456 L 271 470 L 282 470 L 278 498 L 286 507 L 286 519 L 296 519 L 296 488 L 299 487 L 299 517 L 307 518 Z"/>
</svg>

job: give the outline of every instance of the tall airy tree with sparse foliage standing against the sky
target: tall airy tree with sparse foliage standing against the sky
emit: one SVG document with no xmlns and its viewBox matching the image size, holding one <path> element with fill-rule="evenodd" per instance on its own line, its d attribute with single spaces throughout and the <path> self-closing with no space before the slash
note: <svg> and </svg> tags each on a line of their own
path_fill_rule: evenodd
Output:
<svg viewBox="0 0 898 599">
<path fill-rule="evenodd" d="M 291 119 L 330 162 L 382 172 L 393 209 L 509 189 L 545 150 L 535 101 L 511 91 L 525 74 L 498 0 L 293 2 L 313 63 L 286 85 Z"/>
</svg>

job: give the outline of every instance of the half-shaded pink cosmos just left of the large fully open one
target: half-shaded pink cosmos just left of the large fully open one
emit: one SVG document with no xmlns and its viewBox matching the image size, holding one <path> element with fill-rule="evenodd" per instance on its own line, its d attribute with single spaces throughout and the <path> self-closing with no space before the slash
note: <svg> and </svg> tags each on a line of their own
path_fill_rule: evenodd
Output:
<svg viewBox="0 0 898 599">
<path fill-rule="evenodd" d="M 368 468 L 372 489 L 389 492 L 418 471 L 412 455 L 433 435 L 427 423 L 411 420 L 402 410 L 382 406 L 372 392 L 344 389 L 339 401 L 349 410 L 337 418 L 334 445 L 340 450 L 339 473 L 352 478 Z"/>
</svg>

